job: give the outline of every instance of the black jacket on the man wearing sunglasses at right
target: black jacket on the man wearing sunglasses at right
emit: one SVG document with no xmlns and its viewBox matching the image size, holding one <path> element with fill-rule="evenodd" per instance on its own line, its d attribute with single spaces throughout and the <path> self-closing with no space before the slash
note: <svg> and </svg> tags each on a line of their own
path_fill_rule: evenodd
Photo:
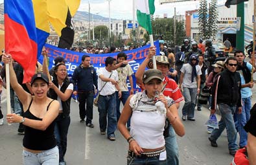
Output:
<svg viewBox="0 0 256 165">
<path fill-rule="evenodd" d="M 227 105 L 235 104 L 237 107 L 242 107 L 241 78 L 239 72 L 230 72 L 225 69 L 218 76 L 216 82 L 213 84 L 212 109 L 216 109 L 216 104 L 219 103 Z"/>
</svg>

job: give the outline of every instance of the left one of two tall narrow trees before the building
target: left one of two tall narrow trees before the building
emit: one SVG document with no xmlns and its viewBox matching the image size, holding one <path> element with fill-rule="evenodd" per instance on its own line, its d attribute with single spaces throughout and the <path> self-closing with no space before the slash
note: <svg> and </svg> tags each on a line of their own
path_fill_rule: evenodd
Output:
<svg viewBox="0 0 256 165">
<path fill-rule="evenodd" d="M 208 39 L 209 38 L 209 30 L 208 30 L 207 1 L 206 0 L 200 1 L 198 14 L 199 14 L 198 25 L 199 25 L 200 37 L 202 39 Z"/>
</svg>

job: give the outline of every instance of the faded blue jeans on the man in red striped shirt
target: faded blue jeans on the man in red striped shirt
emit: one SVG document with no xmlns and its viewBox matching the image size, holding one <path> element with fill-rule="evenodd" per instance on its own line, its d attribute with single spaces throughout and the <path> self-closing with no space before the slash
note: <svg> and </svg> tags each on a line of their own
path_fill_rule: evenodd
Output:
<svg viewBox="0 0 256 165">
<path fill-rule="evenodd" d="M 172 125 L 169 127 L 169 137 L 165 138 L 165 148 L 167 151 L 167 164 L 178 165 L 179 148 L 176 139 L 176 133 Z"/>
</svg>

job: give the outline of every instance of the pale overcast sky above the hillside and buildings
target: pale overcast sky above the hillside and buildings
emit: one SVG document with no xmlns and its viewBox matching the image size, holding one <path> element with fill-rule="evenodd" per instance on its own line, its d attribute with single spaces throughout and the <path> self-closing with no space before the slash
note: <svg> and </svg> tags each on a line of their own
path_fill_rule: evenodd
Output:
<svg viewBox="0 0 256 165">
<path fill-rule="evenodd" d="M 218 4 L 224 4 L 225 1 L 226 0 L 218 0 Z M 96 14 L 99 12 L 100 16 L 108 17 L 107 0 L 81 0 L 78 10 L 88 12 L 88 2 L 91 4 L 91 13 Z M 3 0 L 0 0 L 0 3 L 3 3 Z M 111 0 L 110 5 L 111 18 L 132 19 L 132 0 Z M 185 1 L 159 5 L 159 0 L 155 0 L 155 6 L 155 16 L 158 15 L 159 17 L 163 17 L 163 14 L 167 14 L 168 17 L 172 17 L 174 15 L 174 7 L 176 7 L 177 15 L 184 15 L 186 10 L 194 10 L 198 8 L 199 1 Z"/>
</svg>

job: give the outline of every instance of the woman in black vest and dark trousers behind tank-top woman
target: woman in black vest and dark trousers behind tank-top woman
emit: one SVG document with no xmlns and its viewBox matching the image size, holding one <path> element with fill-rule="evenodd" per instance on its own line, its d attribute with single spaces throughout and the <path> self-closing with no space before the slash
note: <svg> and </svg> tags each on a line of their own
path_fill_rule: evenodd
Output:
<svg viewBox="0 0 256 165">
<path fill-rule="evenodd" d="M 56 118 L 54 135 L 59 149 L 59 165 L 65 165 L 64 156 L 67 151 L 67 132 L 70 124 L 70 101 L 73 92 L 73 83 L 67 78 L 67 69 L 64 63 L 58 63 L 55 67 L 55 75 L 49 83 L 49 95 L 60 103 L 59 114 Z"/>
</svg>

